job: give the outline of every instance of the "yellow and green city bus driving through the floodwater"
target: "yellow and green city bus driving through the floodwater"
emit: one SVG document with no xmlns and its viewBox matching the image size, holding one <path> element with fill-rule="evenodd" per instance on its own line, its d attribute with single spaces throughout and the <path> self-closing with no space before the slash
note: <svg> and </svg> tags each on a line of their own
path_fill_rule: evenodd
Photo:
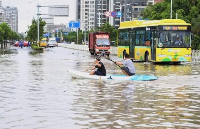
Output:
<svg viewBox="0 0 200 129">
<path fill-rule="evenodd" d="M 152 62 L 190 62 L 191 24 L 181 19 L 134 20 L 121 22 L 118 57 Z"/>
</svg>

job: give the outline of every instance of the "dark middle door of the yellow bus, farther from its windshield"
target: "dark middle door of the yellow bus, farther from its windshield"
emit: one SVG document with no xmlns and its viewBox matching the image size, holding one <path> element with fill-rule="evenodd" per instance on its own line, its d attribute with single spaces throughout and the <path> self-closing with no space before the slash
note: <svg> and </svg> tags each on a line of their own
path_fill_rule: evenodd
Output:
<svg viewBox="0 0 200 129">
<path fill-rule="evenodd" d="M 129 35 L 130 35 L 129 55 L 130 55 L 130 58 L 134 58 L 135 31 L 130 31 Z"/>
</svg>

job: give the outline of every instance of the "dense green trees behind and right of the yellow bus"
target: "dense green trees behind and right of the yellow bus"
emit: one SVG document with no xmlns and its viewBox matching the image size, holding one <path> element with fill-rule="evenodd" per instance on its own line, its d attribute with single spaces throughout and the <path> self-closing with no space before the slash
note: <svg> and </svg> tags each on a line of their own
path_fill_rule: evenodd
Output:
<svg viewBox="0 0 200 129">
<path fill-rule="evenodd" d="M 149 5 L 141 12 L 143 19 L 150 20 L 169 19 L 171 10 L 171 0 Z M 192 24 L 192 32 L 195 35 L 192 41 L 192 49 L 200 48 L 200 0 L 173 0 L 172 1 L 172 18 L 182 19 Z"/>
</svg>

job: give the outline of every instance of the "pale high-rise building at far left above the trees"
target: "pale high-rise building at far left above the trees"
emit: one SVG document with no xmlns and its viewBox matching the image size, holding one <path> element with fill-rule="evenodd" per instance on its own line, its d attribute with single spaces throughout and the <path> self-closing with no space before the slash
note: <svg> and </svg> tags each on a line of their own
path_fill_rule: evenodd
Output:
<svg viewBox="0 0 200 129">
<path fill-rule="evenodd" d="M 4 22 L 6 22 L 13 31 L 18 32 L 18 9 L 10 6 L 3 7 L 3 9 L 5 13 Z"/>
</svg>

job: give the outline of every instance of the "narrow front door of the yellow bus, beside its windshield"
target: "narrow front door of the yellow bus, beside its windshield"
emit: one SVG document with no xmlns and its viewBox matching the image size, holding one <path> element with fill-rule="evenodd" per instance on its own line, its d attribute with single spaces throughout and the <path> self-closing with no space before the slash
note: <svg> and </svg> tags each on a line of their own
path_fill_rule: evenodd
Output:
<svg viewBox="0 0 200 129">
<path fill-rule="evenodd" d="M 156 30 L 151 31 L 151 60 L 156 60 L 156 32 Z"/>
</svg>

